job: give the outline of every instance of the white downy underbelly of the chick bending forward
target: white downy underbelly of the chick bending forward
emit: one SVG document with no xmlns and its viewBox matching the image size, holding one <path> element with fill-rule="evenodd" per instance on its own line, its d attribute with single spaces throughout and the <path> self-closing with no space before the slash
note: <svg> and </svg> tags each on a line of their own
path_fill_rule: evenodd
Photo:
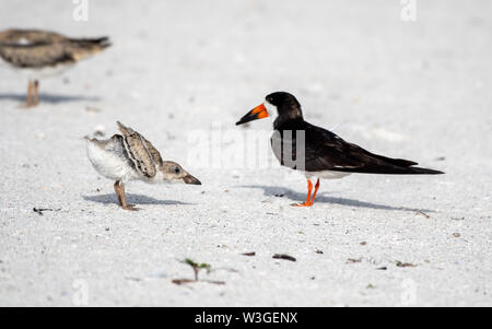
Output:
<svg viewBox="0 0 492 329">
<path fill-rule="evenodd" d="M 133 178 L 134 171 L 124 158 L 101 149 L 92 142 L 87 142 L 86 151 L 92 165 L 102 176 L 124 183 Z"/>
</svg>

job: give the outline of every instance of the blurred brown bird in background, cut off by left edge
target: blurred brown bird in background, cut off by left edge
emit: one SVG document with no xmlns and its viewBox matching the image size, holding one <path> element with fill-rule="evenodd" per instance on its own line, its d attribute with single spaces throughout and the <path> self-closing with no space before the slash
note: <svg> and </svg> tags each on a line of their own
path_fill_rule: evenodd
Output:
<svg viewBox="0 0 492 329">
<path fill-rule="evenodd" d="M 37 105 L 38 80 L 59 74 L 110 46 L 107 37 L 70 38 L 39 30 L 0 32 L 0 58 L 28 77 L 26 106 Z"/>
</svg>

